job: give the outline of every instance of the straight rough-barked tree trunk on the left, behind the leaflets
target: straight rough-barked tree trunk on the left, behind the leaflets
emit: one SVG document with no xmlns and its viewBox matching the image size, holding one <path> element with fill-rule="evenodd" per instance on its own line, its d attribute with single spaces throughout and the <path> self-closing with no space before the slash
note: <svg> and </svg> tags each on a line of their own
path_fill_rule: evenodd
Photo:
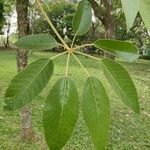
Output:
<svg viewBox="0 0 150 150">
<path fill-rule="evenodd" d="M 28 20 L 28 5 L 29 0 L 17 0 L 17 22 L 18 22 L 18 36 L 19 38 L 29 34 L 29 20 Z M 28 51 L 17 50 L 17 70 L 23 70 L 28 64 Z M 34 141 L 34 131 L 32 128 L 31 109 L 25 106 L 20 111 L 21 117 L 21 138 L 22 140 Z"/>
</svg>

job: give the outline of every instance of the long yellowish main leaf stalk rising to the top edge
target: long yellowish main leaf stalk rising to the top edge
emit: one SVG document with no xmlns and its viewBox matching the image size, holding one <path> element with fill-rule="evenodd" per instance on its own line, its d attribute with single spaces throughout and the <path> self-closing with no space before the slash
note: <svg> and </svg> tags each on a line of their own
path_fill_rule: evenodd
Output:
<svg viewBox="0 0 150 150">
<path fill-rule="evenodd" d="M 63 40 L 63 38 L 60 36 L 60 34 L 58 33 L 58 31 L 56 30 L 56 28 L 54 27 L 54 25 L 52 24 L 51 20 L 49 19 L 49 17 L 47 16 L 46 12 L 44 11 L 42 4 L 39 0 L 35 0 L 37 3 L 37 6 L 39 7 L 41 14 L 43 15 L 43 17 L 46 19 L 46 21 L 48 22 L 48 24 L 50 25 L 50 27 L 52 28 L 52 30 L 54 31 L 54 33 L 57 35 L 57 37 L 59 38 L 59 40 L 61 41 L 61 43 L 67 48 L 69 49 L 68 45 L 66 44 L 66 42 Z"/>
</svg>

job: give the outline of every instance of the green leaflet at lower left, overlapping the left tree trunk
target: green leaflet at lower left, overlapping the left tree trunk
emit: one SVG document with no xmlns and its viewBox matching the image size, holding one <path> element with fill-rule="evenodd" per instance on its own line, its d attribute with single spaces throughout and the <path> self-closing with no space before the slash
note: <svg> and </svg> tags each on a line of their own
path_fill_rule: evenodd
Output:
<svg viewBox="0 0 150 150">
<path fill-rule="evenodd" d="M 19 109 L 31 102 L 47 85 L 53 68 L 52 60 L 42 58 L 16 75 L 5 94 L 5 109 Z"/>
</svg>

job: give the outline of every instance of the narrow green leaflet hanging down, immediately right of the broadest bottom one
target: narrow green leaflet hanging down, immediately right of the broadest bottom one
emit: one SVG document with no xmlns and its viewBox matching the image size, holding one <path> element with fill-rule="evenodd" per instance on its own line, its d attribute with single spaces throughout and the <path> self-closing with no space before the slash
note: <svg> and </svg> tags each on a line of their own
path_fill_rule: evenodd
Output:
<svg viewBox="0 0 150 150">
<path fill-rule="evenodd" d="M 97 150 L 105 150 L 109 131 L 109 100 L 102 83 L 89 77 L 83 89 L 82 110 Z"/>
</svg>

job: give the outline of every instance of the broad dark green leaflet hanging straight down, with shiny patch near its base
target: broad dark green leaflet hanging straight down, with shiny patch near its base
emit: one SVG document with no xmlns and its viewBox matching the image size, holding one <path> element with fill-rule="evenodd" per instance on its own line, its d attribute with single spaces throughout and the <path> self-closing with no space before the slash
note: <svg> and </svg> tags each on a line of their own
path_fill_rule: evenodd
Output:
<svg viewBox="0 0 150 150">
<path fill-rule="evenodd" d="M 50 150 L 60 150 L 71 137 L 79 113 L 75 84 L 68 77 L 59 79 L 47 97 L 43 126 Z"/>
</svg>

